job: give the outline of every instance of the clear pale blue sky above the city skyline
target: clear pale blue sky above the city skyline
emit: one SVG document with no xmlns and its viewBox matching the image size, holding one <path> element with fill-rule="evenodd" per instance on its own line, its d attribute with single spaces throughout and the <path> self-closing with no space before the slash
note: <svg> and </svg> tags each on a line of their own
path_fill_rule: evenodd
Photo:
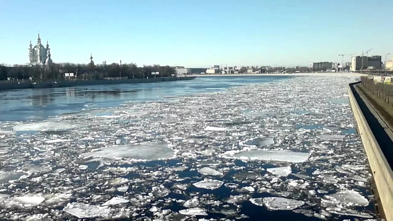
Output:
<svg viewBox="0 0 393 221">
<path fill-rule="evenodd" d="M 0 63 L 49 41 L 55 63 L 207 67 L 393 54 L 392 0 L 0 0 Z M 350 57 L 345 56 L 345 61 Z"/>
</svg>

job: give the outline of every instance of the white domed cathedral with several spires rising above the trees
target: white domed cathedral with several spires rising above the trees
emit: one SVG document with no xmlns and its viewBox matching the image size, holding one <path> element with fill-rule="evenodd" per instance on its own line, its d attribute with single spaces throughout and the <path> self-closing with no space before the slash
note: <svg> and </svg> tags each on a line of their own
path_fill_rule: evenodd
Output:
<svg viewBox="0 0 393 221">
<path fill-rule="evenodd" d="M 30 41 L 29 48 L 29 66 L 40 65 L 49 68 L 52 66 L 52 59 L 50 58 L 50 48 L 48 41 L 46 41 L 46 48 L 41 44 L 40 34 L 38 34 L 37 45 L 34 46 Z"/>
</svg>

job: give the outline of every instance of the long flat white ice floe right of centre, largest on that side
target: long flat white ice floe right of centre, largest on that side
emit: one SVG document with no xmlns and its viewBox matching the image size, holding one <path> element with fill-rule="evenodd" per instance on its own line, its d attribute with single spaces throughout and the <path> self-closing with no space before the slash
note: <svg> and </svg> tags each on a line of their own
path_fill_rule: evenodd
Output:
<svg viewBox="0 0 393 221">
<path fill-rule="evenodd" d="M 234 157 L 250 160 L 272 160 L 292 163 L 305 162 L 311 153 L 294 152 L 289 150 L 252 150 L 233 155 Z"/>
</svg>

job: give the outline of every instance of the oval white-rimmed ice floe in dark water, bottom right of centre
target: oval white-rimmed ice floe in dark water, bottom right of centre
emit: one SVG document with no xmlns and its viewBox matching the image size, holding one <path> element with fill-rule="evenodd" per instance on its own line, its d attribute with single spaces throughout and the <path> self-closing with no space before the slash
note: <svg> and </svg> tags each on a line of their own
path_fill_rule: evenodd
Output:
<svg viewBox="0 0 393 221">
<path fill-rule="evenodd" d="M 294 210 L 305 204 L 304 201 L 283 197 L 252 198 L 250 202 L 257 206 L 264 205 L 270 210 Z"/>
</svg>

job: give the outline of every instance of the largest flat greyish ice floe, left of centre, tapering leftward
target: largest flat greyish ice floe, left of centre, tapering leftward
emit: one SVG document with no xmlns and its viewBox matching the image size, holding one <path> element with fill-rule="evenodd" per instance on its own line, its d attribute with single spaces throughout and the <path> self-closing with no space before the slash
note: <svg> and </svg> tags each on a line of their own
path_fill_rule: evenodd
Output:
<svg viewBox="0 0 393 221">
<path fill-rule="evenodd" d="M 114 145 L 96 151 L 83 153 L 83 157 L 123 157 L 137 160 L 158 160 L 171 158 L 174 151 L 165 142 L 136 145 Z"/>
</svg>

